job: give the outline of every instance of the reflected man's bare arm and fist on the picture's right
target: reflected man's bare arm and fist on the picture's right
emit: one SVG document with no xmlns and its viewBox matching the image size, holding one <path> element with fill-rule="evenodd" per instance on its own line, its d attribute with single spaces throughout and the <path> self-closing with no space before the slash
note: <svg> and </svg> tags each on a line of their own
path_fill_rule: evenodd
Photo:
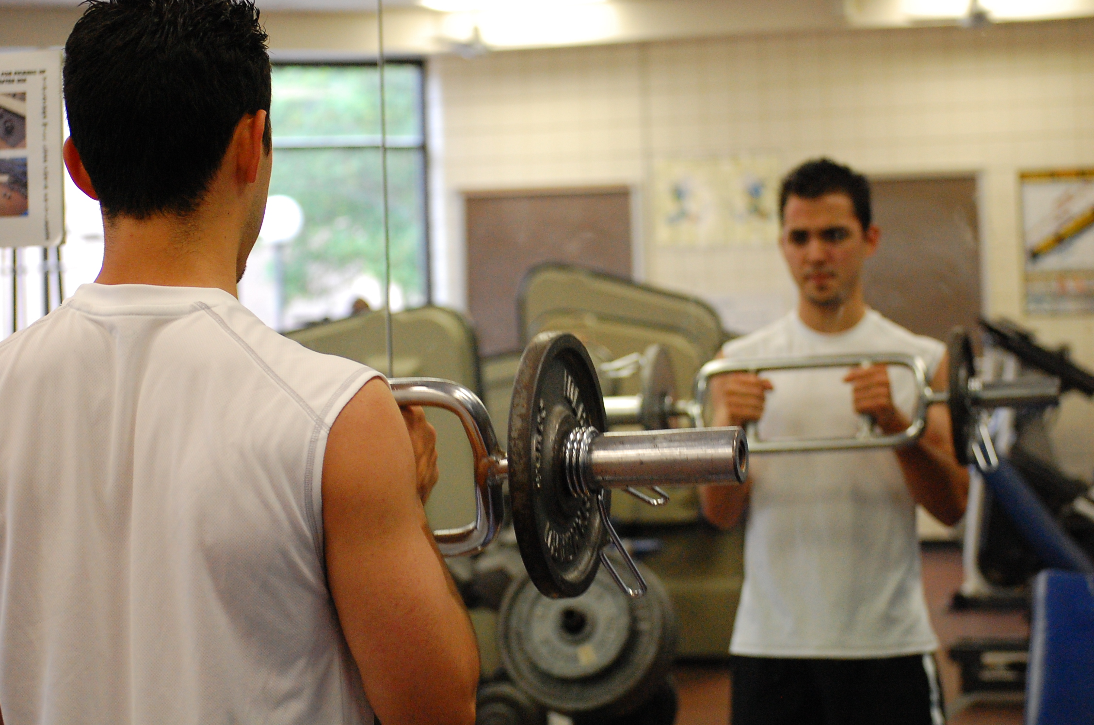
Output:
<svg viewBox="0 0 1094 725">
<path fill-rule="evenodd" d="M 931 381 L 933 389 L 946 389 L 947 370 L 943 356 Z M 846 379 L 854 385 L 856 410 L 873 416 L 882 431 L 896 433 L 908 426 L 907 416 L 893 406 L 884 366 L 851 371 Z M 952 431 L 948 409 L 933 405 L 927 410 L 927 429 L 919 441 L 896 449 L 911 498 L 947 526 L 961 521 L 968 503 L 968 471 L 957 463 Z"/>
</svg>

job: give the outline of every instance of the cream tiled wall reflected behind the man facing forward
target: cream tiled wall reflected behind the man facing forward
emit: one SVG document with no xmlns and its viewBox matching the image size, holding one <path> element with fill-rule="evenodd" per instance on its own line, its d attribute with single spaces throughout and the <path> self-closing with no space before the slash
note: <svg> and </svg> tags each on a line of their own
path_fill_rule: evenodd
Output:
<svg viewBox="0 0 1094 725">
<path fill-rule="evenodd" d="M 1094 318 L 1023 314 L 1017 188 L 1022 169 L 1094 166 L 1094 21 L 522 50 L 440 57 L 430 72 L 443 96 L 453 303 L 462 302 L 462 191 L 620 183 L 641 191 L 662 156 L 765 152 L 790 167 L 826 154 L 869 174 L 977 173 L 985 312 L 1071 344 L 1094 367 Z M 643 252 L 655 284 L 793 300 L 773 241 Z M 1056 441 L 1071 472 L 1089 479 L 1094 405 L 1069 399 Z"/>
</svg>

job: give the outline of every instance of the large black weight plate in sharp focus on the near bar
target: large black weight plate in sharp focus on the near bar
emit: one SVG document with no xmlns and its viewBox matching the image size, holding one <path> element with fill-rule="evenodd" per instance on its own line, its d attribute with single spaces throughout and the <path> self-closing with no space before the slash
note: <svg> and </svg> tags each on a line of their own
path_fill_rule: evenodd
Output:
<svg viewBox="0 0 1094 725">
<path fill-rule="evenodd" d="M 562 453 L 578 426 L 607 429 L 589 353 L 568 332 L 542 332 L 524 349 L 509 413 L 509 495 L 521 559 L 548 597 L 575 597 L 600 566 L 606 529 L 596 495 L 573 495 Z"/>
</svg>

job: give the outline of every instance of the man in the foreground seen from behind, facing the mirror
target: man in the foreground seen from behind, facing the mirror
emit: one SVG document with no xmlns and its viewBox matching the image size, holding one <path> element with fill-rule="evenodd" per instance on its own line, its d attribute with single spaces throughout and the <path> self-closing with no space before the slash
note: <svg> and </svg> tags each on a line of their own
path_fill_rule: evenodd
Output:
<svg viewBox="0 0 1094 725">
<path fill-rule="evenodd" d="M 251 0 L 91 0 L 66 46 L 65 162 L 106 245 L 0 342 L 9 725 L 475 720 L 432 428 L 235 296 L 272 164 L 265 43 Z"/>
</svg>

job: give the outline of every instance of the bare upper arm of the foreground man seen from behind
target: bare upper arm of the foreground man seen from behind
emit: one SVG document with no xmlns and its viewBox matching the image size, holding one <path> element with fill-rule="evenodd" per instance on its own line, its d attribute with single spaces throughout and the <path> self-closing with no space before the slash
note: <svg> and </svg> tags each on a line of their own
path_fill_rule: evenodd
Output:
<svg viewBox="0 0 1094 725">
<path fill-rule="evenodd" d="M 470 725 L 479 660 L 426 521 L 407 426 L 382 379 L 330 429 L 323 464 L 327 578 L 384 725 Z"/>
</svg>

